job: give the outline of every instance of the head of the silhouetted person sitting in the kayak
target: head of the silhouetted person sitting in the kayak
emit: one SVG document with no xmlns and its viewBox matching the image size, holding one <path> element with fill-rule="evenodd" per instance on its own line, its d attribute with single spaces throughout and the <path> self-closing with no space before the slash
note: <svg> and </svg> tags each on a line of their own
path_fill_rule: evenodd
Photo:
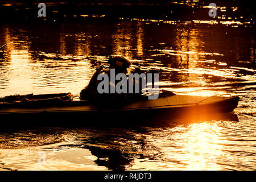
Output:
<svg viewBox="0 0 256 182">
<path fill-rule="evenodd" d="M 108 60 L 109 68 L 115 69 L 115 73 L 127 73 L 127 69 L 130 67 L 131 62 L 124 56 L 111 55 Z"/>
</svg>

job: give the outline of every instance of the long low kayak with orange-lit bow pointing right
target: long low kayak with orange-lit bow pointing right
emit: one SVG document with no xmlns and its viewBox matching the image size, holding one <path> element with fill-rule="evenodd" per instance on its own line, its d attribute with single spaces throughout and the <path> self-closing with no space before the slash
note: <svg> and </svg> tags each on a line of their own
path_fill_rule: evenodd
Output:
<svg viewBox="0 0 256 182">
<path fill-rule="evenodd" d="M 88 101 L 72 101 L 71 93 L 27 95 L 18 99 L 8 99 L 9 102 L 7 99 L 6 102 L 3 102 L 3 98 L 0 99 L 1 117 L 35 114 L 47 117 L 64 116 L 63 118 L 80 115 L 85 118 L 88 115 L 106 119 L 116 118 L 118 115 L 137 117 L 155 113 L 164 115 L 229 113 L 237 107 L 239 97 L 183 96 L 164 91 L 159 94 L 157 100 L 148 100 L 147 96 L 131 97 L 127 104 L 119 107 L 97 106 Z"/>
</svg>

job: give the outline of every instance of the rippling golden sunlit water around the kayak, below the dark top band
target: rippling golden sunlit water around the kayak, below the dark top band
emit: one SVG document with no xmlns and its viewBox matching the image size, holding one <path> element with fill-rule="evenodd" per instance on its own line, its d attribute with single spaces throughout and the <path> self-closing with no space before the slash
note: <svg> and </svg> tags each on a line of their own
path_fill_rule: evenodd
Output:
<svg viewBox="0 0 256 182">
<path fill-rule="evenodd" d="M 9 42 L 14 43 L 0 59 L 0 97 L 71 92 L 79 100 L 97 65 L 118 54 L 131 59 L 133 67 L 161 69 L 161 89 L 232 94 L 240 103 L 234 114 L 201 119 L 86 127 L 97 121 L 84 118 L 85 127 L 2 131 L 0 170 L 256 169 L 251 17 L 232 16 L 217 24 L 199 18 L 1 23 L 0 43 Z"/>
</svg>

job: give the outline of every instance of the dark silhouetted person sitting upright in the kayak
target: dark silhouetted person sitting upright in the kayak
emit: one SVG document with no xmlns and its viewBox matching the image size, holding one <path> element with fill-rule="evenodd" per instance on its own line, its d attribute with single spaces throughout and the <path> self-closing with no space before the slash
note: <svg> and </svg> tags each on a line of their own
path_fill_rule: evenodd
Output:
<svg viewBox="0 0 256 182">
<path fill-rule="evenodd" d="M 125 100 L 126 94 L 125 93 L 114 93 L 114 94 L 107 94 L 107 93 L 98 93 L 97 86 L 100 83 L 100 80 L 97 80 L 98 75 L 101 73 L 107 74 L 110 77 L 110 69 L 115 69 L 115 75 L 118 73 L 127 74 L 127 69 L 130 67 L 131 62 L 123 56 L 110 56 L 109 60 L 109 69 L 107 69 L 104 65 L 100 65 L 96 68 L 92 78 L 89 81 L 89 84 L 85 86 L 84 89 L 80 92 L 80 99 L 81 100 L 93 100 L 93 101 L 118 101 L 122 102 Z M 110 82 L 110 84 L 115 84 Z M 110 93 L 110 92 L 109 92 Z"/>
</svg>

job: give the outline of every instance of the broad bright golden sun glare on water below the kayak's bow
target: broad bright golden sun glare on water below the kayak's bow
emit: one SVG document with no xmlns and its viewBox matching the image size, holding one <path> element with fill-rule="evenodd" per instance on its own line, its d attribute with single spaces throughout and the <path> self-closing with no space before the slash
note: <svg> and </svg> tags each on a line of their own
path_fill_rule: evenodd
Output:
<svg viewBox="0 0 256 182">
<path fill-rule="evenodd" d="M 177 126 L 163 132 L 165 139 L 157 140 L 157 137 L 148 137 L 149 143 L 154 147 L 161 148 L 155 158 L 134 159 L 133 168 L 136 169 L 159 169 L 159 170 L 224 170 L 226 166 L 232 166 L 237 158 L 230 156 L 225 151 L 228 141 L 221 138 L 223 128 L 218 126 L 217 121 L 191 123 Z M 155 133 L 155 135 L 158 135 Z M 147 152 L 147 151 L 145 151 Z M 153 155 L 154 151 L 150 152 Z M 155 160 L 155 161 L 154 161 Z M 154 163 L 152 163 L 154 161 Z M 220 163 L 225 165 L 220 165 Z M 129 167 L 127 167 L 129 169 Z M 235 169 L 233 167 L 233 169 Z"/>
</svg>

